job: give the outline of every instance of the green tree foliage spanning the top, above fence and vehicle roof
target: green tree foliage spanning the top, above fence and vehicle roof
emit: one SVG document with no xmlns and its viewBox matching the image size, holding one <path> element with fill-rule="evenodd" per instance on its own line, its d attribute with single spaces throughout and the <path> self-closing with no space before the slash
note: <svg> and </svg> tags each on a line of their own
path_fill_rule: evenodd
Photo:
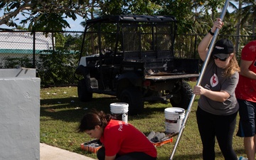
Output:
<svg viewBox="0 0 256 160">
<path fill-rule="evenodd" d="M 238 11 L 235 3 L 242 3 Z M 21 24 L 28 23 L 28 30 L 62 31 L 70 28 L 65 18 L 77 19 L 82 16 L 85 21 L 97 16 L 116 14 L 172 15 L 178 20 L 178 33 L 206 33 L 215 18 L 220 16 L 225 1 L 202 0 L 14 0 L 0 1 L 0 9 L 4 16 L 0 17 L 0 25 L 16 26 L 16 16 L 22 14 Z M 225 33 L 235 34 L 238 21 L 241 19 L 240 31 L 249 29 L 247 33 L 255 33 L 255 1 L 230 1 L 233 13 L 225 15 Z M 228 29 L 229 28 L 229 29 Z M 243 29 L 245 28 L 245 29 Z"/>
</svg>

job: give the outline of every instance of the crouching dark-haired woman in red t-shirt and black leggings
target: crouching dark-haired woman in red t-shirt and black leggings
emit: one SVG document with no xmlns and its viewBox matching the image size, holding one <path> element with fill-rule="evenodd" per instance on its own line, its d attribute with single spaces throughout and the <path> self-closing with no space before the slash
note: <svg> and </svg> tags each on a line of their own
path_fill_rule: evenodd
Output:
<svg viewBox="0 0 256 160">
<path fill-rule="evenodd" d="M 142 132 L 102 111 L 85 114 L 78 132 L 100 139 L 104 146 L 97 151 L 99 160 L 156 160 L 156 148 Z"/>
</svg>

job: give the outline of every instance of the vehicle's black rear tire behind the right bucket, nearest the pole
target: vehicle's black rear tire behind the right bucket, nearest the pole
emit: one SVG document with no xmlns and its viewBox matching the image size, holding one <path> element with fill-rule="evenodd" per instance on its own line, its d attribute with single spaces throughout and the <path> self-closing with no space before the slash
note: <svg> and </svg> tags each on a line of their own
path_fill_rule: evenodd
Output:
<svg viewBox="0 0 256 160">
<path fill-rule="evenodd" d="M 178 90 L 176 95 L 170 99 L 172 107 L 180 107 L 187 110 L 192 94 L 193 90 L 191 85 L 189 85 L 188 82 L 182 81 L 181 89 Z"/>
</svg>

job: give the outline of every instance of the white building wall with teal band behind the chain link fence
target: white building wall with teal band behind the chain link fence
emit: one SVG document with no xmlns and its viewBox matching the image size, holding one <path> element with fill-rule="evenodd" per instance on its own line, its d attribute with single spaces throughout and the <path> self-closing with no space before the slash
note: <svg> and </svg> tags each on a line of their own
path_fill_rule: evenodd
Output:
<svg viewBox="0 0 256 160">
<path fill-rule="evenodd" d="M 35 53 L 42 50 L 53 50 L 52 34 L 35 33 Z M 33 34 L 30 31 L 1 32 L 0 34 L 0 68 L 6 68 L 6 58 L 29 58 L 33 61 Z M 23 66 L 24 67 L 24 66 Z"/>
</svg>

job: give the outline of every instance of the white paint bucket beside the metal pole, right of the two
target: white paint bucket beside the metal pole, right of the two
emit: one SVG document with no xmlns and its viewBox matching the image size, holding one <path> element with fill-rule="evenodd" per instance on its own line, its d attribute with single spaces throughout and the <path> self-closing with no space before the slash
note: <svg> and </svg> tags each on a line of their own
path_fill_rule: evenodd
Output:
<svg viewBox="0 0 256 160">
<path fill-rule="evenodd" d="M 165 127 L 167 133 L 178 133 L 185 117 L 185 110 L 178 107 L 169 107 L 164 110 Z"/>
</svg>

